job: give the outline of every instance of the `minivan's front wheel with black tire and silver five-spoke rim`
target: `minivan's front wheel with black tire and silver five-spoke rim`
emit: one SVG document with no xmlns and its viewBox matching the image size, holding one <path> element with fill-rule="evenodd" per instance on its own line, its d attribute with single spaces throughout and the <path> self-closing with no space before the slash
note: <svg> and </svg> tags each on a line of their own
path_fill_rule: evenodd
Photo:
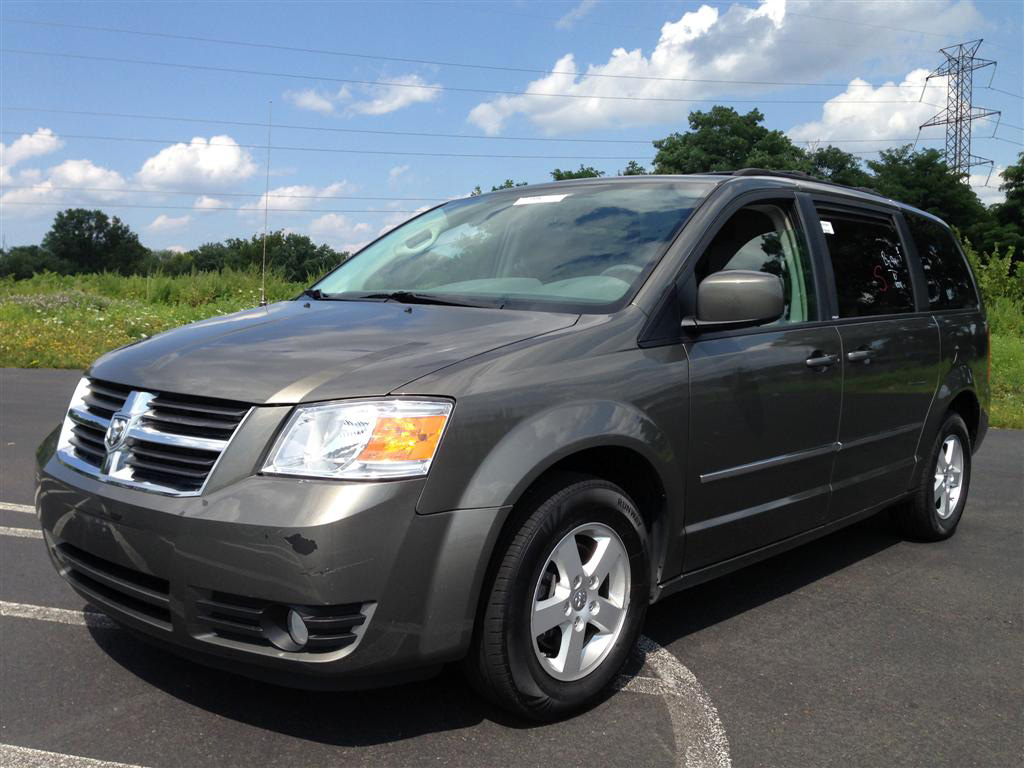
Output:
<svg viewBox="0 0 1024 768">
<path fill-rule="evenodd" d="M 517 511 L 467 672 L 499 707 L 553 721 L 594 703 L 636 645 L 650 594 L 647 534 L 622 488 L 587 475 L 553 478 Z"/>
</svg>

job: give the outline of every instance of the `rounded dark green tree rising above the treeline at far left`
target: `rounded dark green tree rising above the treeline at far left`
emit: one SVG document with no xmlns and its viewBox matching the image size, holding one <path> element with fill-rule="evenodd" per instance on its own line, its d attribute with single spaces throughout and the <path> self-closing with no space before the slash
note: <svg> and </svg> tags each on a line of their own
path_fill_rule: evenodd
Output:
<svg viewBox="0 0 1024 768">
<path fill-rule="evenodd" d="M 121 272 L 144 270 L 148 249 L 121 219 L 102 211 L 69 208 L 53 219 L 43 238 L 43 249 L 67 265 L 68 271 Z"/>
</svg>

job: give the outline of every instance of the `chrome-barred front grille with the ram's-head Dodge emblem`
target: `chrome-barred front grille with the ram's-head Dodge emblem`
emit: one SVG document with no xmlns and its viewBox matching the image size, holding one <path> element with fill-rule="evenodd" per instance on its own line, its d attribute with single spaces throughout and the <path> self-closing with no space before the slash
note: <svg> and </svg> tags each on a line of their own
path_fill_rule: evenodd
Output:
<svg viewBox="0 0 1024 768">
<path fill-rule="evenodd" d="M 65 420 L 57 457 L 108 482 L 197 496 L 249 411 L 248 404 L 232 400 L 83 379 Z"/>
</svg>

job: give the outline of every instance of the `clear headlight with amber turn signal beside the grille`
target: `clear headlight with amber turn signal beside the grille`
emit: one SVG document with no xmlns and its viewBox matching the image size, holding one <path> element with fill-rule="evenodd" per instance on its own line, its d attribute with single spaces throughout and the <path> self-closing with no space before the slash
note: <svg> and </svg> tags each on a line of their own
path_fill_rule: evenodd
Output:
<svg viewBox="0 0 1024 768">
<path fill-rule="evenodd" d="M 263 472 L 349 480 L 419 477 L 430 469 L 451 414 L 445 400 L 299 406 Z"/>
</svg>

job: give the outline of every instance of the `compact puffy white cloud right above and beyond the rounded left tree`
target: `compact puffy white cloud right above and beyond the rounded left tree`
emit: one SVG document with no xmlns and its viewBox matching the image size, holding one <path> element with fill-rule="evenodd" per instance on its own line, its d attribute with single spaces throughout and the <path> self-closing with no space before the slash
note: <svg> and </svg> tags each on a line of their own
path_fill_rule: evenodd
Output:
<svg viewBox="0 0 1024 768">
<path fill-rule="evenodd" d="M 230 136 L 197 136 L 190 143 L 172 144 L 146 160 L 138 180 L 147 186 L 224 185 L 249 178 L 258 169 Z"/>
</svg>

